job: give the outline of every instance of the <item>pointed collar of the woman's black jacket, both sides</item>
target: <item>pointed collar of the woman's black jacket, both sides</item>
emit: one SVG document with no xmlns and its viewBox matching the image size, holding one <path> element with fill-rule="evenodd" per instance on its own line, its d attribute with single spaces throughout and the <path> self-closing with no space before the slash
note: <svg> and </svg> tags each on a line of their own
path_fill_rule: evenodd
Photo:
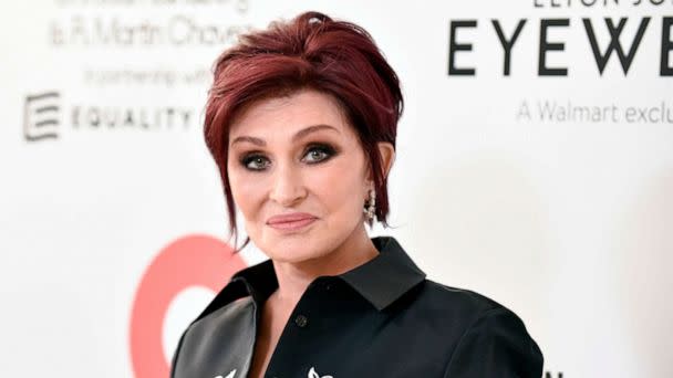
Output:
<svg viewBox="0 0 673 378">
<path fill-rule="evenodd" d="M 425 280 L 402 245 L 393 237 L 372 238 L 379 255 L 366 263 L 338 275 L 377 311 L 382 311 L 412 287 Z M 278 280 L 271 260 L 246 267 L 234 274 L 231 281 L 199 315 L 197 321 L 237 298 L 251 295 L 261 303 L 276 291 Z"/>
</svg>

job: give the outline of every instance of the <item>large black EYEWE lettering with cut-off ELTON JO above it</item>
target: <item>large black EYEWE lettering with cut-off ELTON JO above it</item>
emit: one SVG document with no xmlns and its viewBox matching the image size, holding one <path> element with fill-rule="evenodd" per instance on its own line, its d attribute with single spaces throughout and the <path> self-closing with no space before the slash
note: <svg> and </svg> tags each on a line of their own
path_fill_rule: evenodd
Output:
<svg viewBox="0 0 673 378">
<path fill-rule="evenodd" d="M 619 2 L 617 0 L 609 1 L 542 1 L 535 0 L 534 9 L 550 9 L 555 12 L 562 12 L 567 8 L 602 8 L 608 11 L 612 9 L 635 9 L 635 8 L 654 8 L 659 10 L 666 6 L 664 1 L 643 1 L 632 0 L 631 2 Z M 547 13 L 546 13 L 547 14 Z M 600 14 L 600 13 L 599 13 Z M 591 17 L 589 17 L 591 15 Z M 607 15 L 607 14 L 605 14 Z M 661 27 L 661 32 L 655 30 L 653 27 L 656 24 Z M 478 40 L 469 36 L 469 30 L 477 30 L 479 28 L 490 29 L 489 33 L 495 34 L 499 42 L 499 52 L 496 53 L 499 56 L 494 56 L 493 60 L 485 60 L 483 63 L 489 66 L 478 67 L 473 64 L 458 63 L 464 62 L 464 59 L 468 59 L 468 55 L 473 50 L 478 49 Z M 579 28 L 582 29 L 581 40 L 568 39 L 559 36 L 558 33 L 562 33 L 565 30 Z M 605 73 L 614 73 L 618 69 L 610 67 L 618 65 L 623 72 L 624 76 L 628 76 L 629 70 L 633 66 L 634 62 L 650 63 L 652 60 L 636 60 L 639 48 L 645 39 L 655 40 L 659 49 L 656 49 L 656 62 L 659 64 L 650 64 L 649 70 L 658 70 L 659 76 L 673 76 L 673 60 L 671 60 L 671 53 L 673 52 L 673 17 L 670 15 L 656 15 L 656 17 L 596 17 L 596 12 L 587 12 L 587 17 L 569 18 L 559 14 L 553 18 L 540 18 L 538 20 L 530 19 L 459 19 L 449 20 L 448 22 L 448 62 L 447 73 L 448 76 L 476 76 L 477 72 L 482 69 L 486 69 L 490 72 L 497 72 L 501 70 L 503 76 L 510 76 L 512 71 L 516 71 L 517 62 L 521 62 L 521 57 L 516 52 L 516 46 L 521 43 L 519 42 L 520 36 L 526 33 L 538 32 L 536 45 L 537 59 L 537 75 L 538 76 L 569 76 L 572 71 L 571 63 L 568 64 L 551 64 L 550 56 L 562 56 L 566 51 L 567 44 L 583 44 L 587 52 L 587 61 L 589 64 L 596 66 L 596 73 L 599 76 L 603 76 Z M 583 41 L 582 41 L 583 40 Z M 459 57 L 460 56 L 460 57 Z M 459 57 L 459 59 L 458 59 Z M 592 61 L 592 62 L 591 62 Z M 493 62 L 498 62 L 501 69 L 493 66 Z M 643 63 L 640 63 L 643 64 Z"/>
</svg>

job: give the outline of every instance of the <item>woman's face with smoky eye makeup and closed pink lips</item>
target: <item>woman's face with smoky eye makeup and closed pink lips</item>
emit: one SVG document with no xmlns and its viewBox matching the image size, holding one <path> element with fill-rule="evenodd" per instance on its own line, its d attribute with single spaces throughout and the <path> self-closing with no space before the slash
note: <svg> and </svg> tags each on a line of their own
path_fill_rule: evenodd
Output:
<svg viewBox="0 0 673 378">
<path fill-rule="evenodd" d="M 367 160 L 331 96 L 306 90 L 252 103 L 231 124 L 228 154 L 234 201 L 270 259 L 324 256 L 364 228 Z"/>
</svg>

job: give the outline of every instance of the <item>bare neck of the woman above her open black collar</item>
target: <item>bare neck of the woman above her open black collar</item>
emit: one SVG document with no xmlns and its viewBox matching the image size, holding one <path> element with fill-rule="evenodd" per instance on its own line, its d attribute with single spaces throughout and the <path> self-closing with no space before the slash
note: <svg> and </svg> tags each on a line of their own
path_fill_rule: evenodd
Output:
<svg viewBox="0 0 673 378">
<path fill-rule="evenodd" d="M 374 259 L 379 251 L 366 234 L 364 225 L 332 252 L 301 262 L 273 261 L 278 279 L 275 300 L 287 308 L 294 308 L 299 298 L 313 280 L 321 275 L 339 275 Z"/>
</svg>

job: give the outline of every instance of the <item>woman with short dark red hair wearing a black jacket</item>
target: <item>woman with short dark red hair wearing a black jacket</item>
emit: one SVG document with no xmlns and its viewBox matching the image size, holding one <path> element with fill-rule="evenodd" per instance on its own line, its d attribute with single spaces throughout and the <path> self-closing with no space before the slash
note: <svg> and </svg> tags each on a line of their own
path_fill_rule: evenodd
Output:
<svg viewBox="0 0 673 378">
<path fill-rule="evenodd" d="M 321 13 L 218 59 L 207 145 L 232 234 L 238 207 L 270 260 L 235 274 L 185 330 L 172 377 L 541 376 L 512 312 L 426 280 L 394 238 L 367 237 L 365 222 L 386 225 L 402 105 L 366 31 Z"/>
</svg>

